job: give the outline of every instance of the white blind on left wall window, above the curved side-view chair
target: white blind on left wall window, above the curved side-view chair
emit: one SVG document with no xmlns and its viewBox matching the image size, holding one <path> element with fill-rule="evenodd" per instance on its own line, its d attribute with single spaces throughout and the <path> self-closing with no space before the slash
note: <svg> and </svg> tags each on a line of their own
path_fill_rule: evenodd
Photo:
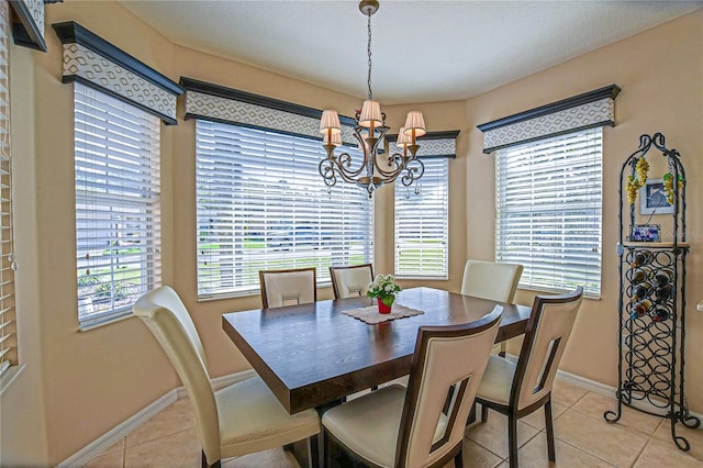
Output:
<svg viewBox="0 0 703 468">
<path fill-rule="evenodd" d="M 75 85 L 76 253 L 81 327 L 131 313 L 160 285 L 160 122 Z"/>
</svg>

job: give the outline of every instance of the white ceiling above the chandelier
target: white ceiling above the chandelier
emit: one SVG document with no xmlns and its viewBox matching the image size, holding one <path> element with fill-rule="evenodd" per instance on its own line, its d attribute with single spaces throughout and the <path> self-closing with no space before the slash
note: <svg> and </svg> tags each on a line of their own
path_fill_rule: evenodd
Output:
<svg viewBox="0 0 703 468">
<path fill-rule="evenodd" d="M 121 0 L 175 44 L 367 94 L 357 1 Z M 386 104 L 466 99 L 703 7 L 703 1 L 393 1 L 371 16 Z"/>
</svg>

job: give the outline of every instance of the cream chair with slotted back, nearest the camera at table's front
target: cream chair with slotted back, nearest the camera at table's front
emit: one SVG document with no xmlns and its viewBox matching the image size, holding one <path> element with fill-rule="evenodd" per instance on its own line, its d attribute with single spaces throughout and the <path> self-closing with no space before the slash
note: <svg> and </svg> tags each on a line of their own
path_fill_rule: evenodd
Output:
<svg viewBox="0 0 703 468">
<path fill-rule="evenodd" d="M 323 414 L 325 466 L 335 443 L 371 466 L 444 466 L 454 458 L 460 467 L 465 422 L 500 321 L 496 309 L 469 324 L 420 327 L 408 389 L 383 387 Z"/>
</svg>

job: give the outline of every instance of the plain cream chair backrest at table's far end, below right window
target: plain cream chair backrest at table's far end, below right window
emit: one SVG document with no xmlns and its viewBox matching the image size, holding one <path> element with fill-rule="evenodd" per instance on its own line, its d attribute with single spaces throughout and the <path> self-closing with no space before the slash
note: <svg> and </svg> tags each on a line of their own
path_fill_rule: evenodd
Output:
<svg viewBox="0 0 703 468">
<path fill-rule="evenodd" d="M 461 293 L 498 302 L 513 302 L 523 274 L 518 264 L 467 260 L 461 281 Z"/>
</svg>

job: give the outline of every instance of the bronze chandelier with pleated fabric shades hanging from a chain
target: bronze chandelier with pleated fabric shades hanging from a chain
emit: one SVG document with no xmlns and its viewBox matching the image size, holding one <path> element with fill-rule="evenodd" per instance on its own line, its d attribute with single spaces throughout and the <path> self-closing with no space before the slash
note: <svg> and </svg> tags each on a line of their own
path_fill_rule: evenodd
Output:
<svg viewBox="0 0 703 468">
<path fill-rule="evenodd" d="M 417 159 L 420 145 L 416 137 L 425 134 L 425 121 L 420 111 L 408 112 L 405 125 L 398 133 L 397 146 L 400 153 L 391 154 L 386 134 L 390 127 L 386 126 L 386 114 L 381 111 L 381 104 L 373 100 L 371 91 L 371 15 L 378 11 L 377 0 L 362 0 L 359 10 L 368 18 L 368 45 L 369 57 L 368 87 L 369 99 L 364 101 L 361 110 L 355 113 L 354 137 L 357 140 L 364 160 L 353 164 L 348 153 L 334 154 L 337 146 L 342 145 L 342 125 L 337 111 L 326 110 L 320 120 L 320 132 L 323 134 L 323 144 L 327 156 L 320 161 L 320 175 L 331 190 L 337 183 L 337 178 L 345 182 L 356 183 L 366 188 L 369 198 L 373 191 L 383 183 L 391 183 L 400 177 L 401 182 L 409 190 L 425 171 L 425 166 Z M 357 166 L 358 164 L 358 166 Z M 417 186 L 415 185 L 415 191 Z"/>
</svg>

